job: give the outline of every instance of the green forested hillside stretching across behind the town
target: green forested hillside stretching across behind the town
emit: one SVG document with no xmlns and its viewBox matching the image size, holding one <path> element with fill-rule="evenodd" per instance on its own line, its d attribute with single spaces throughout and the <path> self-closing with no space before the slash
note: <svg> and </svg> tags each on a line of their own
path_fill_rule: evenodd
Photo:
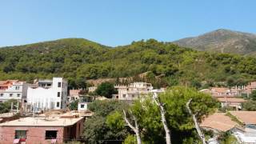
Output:
<svg viewBox="0 0 256 144">
<path fill-rule="evenodd" d="M 231 85 L 256 79 L 256 58 L 199 52 L 154 39 L 112 48 L 86 39 L 66 38 L 0 49 L 1 80 L 31 82 L 34 78 L 60 76 L 74 87 L 84 86 L 86 79 L 144 72 L 148 72 L 144 80 L 154 86 Z"/>
</svg>

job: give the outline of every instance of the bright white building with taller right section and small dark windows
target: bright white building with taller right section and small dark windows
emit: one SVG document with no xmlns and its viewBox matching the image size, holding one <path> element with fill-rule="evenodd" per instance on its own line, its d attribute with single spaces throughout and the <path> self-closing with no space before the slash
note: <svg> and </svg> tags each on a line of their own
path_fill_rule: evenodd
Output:
<svg viewBox="0 0 256 144">
<path fill-rule="evenodd" d="M 66 109 L 67 82 L 63 78 L 38 80 L 36 86 L 27 90 L 27 105 L 30 110 Z"/>
</svg>

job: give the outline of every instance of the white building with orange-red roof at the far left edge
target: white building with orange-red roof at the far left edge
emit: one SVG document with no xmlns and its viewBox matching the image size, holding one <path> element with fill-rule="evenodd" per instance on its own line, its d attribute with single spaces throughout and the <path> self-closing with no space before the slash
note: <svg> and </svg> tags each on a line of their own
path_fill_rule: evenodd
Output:
<svg viewBox="0 0 256 144">
<path fill-rule="evenodd" d="M 20 102 L 26 99 L 27 89 L 30 84 L 18 80 L 0 81 L 0 102 L 17 99 Z"/>
</svg>

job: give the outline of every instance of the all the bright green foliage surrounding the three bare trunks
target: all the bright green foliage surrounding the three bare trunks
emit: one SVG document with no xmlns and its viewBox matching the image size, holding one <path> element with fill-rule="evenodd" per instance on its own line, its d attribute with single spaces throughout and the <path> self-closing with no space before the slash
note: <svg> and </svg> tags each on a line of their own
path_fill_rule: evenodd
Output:
<svg viewBox="0 0 256 144">
<path fill-rule="evenodd" d="M 198 122 L 216 110 L 217 102 L 208 94 L 185 87 L 172 87 L 166 93 L 160 94 L 159 98 L 164 103 L 172 143 L 200 143 L 192 116 L 186 110 L 186 102 L 192 98 L 190 107 L 194 114 L 197 114 Z M 136 118 L 142 143 L 166 143 L 160 110 L 151 96 L 144 98 L 143 101 L 134 102 L 126 111 L 131 123 L 134 123 L 133 120 Z M 108 115 L 106 123 L 114 130 L 123 130 L 126 126 L 123 117 L 122 111 L 116 110 Z M 126 129 L 130 130 L 130 127 L 126 126 Z M 130 143 L 134 141 L 134 137 L 127 135 L 125 141 Z"/>
</svg>

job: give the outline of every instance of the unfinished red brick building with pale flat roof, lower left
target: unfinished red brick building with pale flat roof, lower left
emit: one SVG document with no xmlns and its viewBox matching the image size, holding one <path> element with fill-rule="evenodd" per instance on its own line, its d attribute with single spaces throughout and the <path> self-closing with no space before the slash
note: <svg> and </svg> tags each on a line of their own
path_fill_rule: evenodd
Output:
<svg viewBox="0 0 256 144">
<path fill-rule="evenodd" d="M 63 143 L 80 138 L 84 118 L 21 118 L 0 124 L 0 144 Z"/>
</svg>

